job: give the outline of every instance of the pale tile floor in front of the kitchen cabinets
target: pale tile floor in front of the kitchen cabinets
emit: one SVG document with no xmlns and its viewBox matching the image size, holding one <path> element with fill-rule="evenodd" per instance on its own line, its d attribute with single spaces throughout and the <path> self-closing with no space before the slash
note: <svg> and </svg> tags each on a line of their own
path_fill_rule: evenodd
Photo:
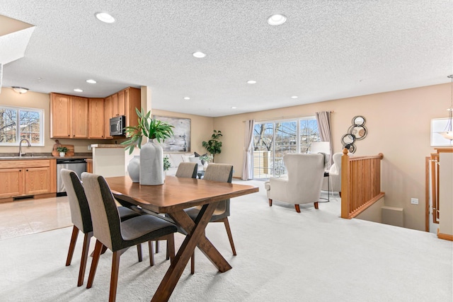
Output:
<svg viewBox="0 0 453 302">
<path fill-rule="evenodd" d="M 71 225 L 66 196 L 0 203 L 0 240 Z"/>
</svg>

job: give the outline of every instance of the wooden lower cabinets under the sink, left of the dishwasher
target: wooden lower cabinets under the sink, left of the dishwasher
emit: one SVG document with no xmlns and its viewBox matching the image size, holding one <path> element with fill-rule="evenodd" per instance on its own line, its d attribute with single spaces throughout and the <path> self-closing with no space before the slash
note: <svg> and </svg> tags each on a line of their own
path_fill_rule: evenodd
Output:
<svg viewBox="0 0 453 302">
<path fill-rule="evenodd" d="M 14 197 L 55 196 L 57 192 L 57 161 L 40 159 L 26 161 L 1 161 L 0 202 Z"/>
</svg>

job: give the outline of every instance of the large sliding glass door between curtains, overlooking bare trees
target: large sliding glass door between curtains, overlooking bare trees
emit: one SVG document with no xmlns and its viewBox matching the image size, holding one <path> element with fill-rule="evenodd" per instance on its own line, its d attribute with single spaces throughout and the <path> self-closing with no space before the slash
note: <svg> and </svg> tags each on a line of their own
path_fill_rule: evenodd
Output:
<svg viewBox="0 0 453 302">
<path fill-rule="evenodd" d="M 286 173 L 286 153 L 307 153 L 319 141 L 314 117 L 255 124 L 253 131 L 253 178 L 278 177 Z"/>
</svg>

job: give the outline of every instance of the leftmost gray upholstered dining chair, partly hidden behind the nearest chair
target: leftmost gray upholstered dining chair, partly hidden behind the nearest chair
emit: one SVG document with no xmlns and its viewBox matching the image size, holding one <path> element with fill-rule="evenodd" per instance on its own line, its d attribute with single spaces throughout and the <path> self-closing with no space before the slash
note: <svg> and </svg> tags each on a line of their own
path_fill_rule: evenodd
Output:
<svg viewBox="0 0 453 302">
<path fill-rule="evenodd" d="M 66 188 L 68 196 L 69 209 L 71 210 L 71 221 L 74 224 L 74 227 L 72 228 L 71 243 L 69 243 L 66 266 L 71 265 L 79 231 L 85 234 L 80 260 L 79 279 L 77 281 L 77 286 L 81 286 L 82 284 L 84 284 L 88 248 L 90 247 L 90 239 L 93 236 L 93 224 L 91 223 L 90 208 L 88 207 L 88 201 L 86 199 L 84 187 L 82 186 L 79 177 L 72 170 L 62 169 L 61 173 L 64 187 Z M 140 215 L 136 211 L 127 209 L 127 207 L 117 207 L 117 210 L 122 221 Z M 140 262 L 142 261 L 142 248 L 140 245 L 137 245 L 137 252 Z"/>
</svg>

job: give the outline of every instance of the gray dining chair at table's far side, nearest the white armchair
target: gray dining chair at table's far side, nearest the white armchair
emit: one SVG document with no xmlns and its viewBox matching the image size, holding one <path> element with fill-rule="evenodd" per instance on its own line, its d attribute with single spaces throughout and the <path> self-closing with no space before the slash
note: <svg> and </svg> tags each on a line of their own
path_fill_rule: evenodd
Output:
<svg viewBox="0 0 453 302">
<path fill-rule="evenodd" d="M 205 178 L 203 180 L 213 180 L 217 182 L 229 182 L 233 178 L 233 165 L 225 163 L 210 163 L 207 165 L 205 171 Z M 226 234 L 228 235 L 229 243 L 231 245 L 231 250 L 233 255 L 236 256 L 236 248 L 234 248 L 233 236 L 231 236 L 231 229 L 229 228 L 229 203 L 230 200 L 222 200 L 217 205 L 217 208 L 214 210 L 210 222 L 223 222 L 226 229 Z M 195 221 L 198 214 L 200 213 L 201 207 L 193 207 L 186 209 L 185 212 L 190 216 L 190 218 Z M 194 274 L 195 272 L 195 253 L 192 255 L 190 261 L 190 273 Z"/>
</svg>

